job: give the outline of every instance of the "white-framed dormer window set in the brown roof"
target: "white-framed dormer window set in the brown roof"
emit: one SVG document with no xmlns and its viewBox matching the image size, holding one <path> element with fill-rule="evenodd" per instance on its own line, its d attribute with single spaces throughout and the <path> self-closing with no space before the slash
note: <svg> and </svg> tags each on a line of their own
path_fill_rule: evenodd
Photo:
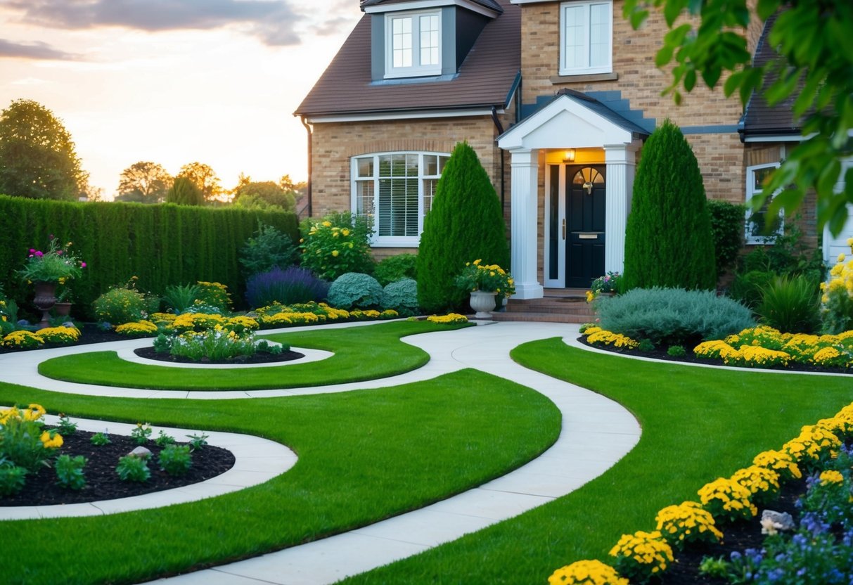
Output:
<svg viewBox="0 0 853 585">
<path fill-rule="evenodd" d="M 441 74 L 441 11 L 386 14 L 386 78 Z"/>
</svg>

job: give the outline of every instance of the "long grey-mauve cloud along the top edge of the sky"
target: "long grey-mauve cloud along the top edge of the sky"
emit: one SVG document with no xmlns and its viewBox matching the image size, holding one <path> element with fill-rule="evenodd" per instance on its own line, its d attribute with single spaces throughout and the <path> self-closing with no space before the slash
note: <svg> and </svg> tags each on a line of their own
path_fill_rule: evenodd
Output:
<svg viewBox="0 0 853 585">
<path fill-rule="evenodd" d="M 303 20 L 285 0 L 0 0 L 20 21 L 36 26 L 82 30 L 122 26 L 148 32 L 211 30 L 240 25 L 265 44 L 299 43 Z"/>
</svg>

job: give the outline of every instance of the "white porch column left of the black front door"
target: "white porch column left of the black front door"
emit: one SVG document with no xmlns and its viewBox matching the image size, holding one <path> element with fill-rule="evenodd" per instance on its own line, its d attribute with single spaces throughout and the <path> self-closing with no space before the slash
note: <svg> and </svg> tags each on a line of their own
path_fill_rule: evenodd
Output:
<svg viewBox="0 0 853 585">
<path fill-rule="evenodd" d="M 513 298 L 542 298 L 544 289 L 537 280 L 539 151 L 518 148 L 510 153 Z"/>
</svg>

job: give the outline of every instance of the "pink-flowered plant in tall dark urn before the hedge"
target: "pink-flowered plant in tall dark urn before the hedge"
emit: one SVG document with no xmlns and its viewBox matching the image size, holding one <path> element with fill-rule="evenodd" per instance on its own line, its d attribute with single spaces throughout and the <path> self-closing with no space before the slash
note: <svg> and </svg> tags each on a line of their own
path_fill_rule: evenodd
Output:
<svg viewBox="0 0 853 585">
<path fill-rule="evenodd" d="M 36 296 L 33 303 L 42 311 L 41 327 L 48 326 L 48 312 L 56 302 L 56 286 L 77 278 L 86 267 L 85 262 L 81 262 L 70 252 L 71 242 L 60 246 L 59 240 L 53 234 L 49 239 L 47 252 L 30 248 L 24 268 L 18 270 L 21 280 L 35 285 Z"/>
</svg>

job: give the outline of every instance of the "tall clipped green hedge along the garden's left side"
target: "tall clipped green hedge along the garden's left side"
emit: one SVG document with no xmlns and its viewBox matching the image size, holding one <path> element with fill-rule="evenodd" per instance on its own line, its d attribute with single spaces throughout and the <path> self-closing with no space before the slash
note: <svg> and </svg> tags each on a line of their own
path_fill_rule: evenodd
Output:
<svg viewBox="0 0 853 585">
<path fill-rule="evenodd" d="M 32 285 L 15 275 L 30 248 L 44 250 L 50 234 L 73 242 L 88 266 L 73 282 L 80 310 L 107 288 L 136 276 L 137 288 L 163 293 L 171 284 L 218 281 L 243 298 L 237 258 L 258 220 L 299 241 L 293 213 L 136 203 L 69 203 L 0 195 L 0 284 L 10 298 L 29 304 Z"/>
</svg>

